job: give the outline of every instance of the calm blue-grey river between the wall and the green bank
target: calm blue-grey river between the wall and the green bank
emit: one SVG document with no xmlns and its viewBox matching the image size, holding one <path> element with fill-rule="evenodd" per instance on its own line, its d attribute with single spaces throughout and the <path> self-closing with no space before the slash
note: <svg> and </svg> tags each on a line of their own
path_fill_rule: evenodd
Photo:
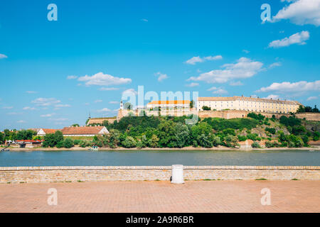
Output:
<svg viewBox="0 0 320 227">
<path fill-rule="evenodd" d="M 312 150 L 125 150 L 2 152 L 0 166 L 320 165 Z"/>
</svg>

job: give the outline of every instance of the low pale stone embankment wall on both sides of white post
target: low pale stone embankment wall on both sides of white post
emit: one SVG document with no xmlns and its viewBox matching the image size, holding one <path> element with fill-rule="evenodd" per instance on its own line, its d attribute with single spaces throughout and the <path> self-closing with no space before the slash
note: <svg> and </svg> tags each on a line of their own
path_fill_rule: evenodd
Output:
<svg viewBox="0 0 320 227">
<path fill-rule="evenodd" d="M 0 183 L 169 180 L 169 166 L 0 167 Z M 320 166 L 185 166 L 184 179 L 320 179 Z"/>
</svg>

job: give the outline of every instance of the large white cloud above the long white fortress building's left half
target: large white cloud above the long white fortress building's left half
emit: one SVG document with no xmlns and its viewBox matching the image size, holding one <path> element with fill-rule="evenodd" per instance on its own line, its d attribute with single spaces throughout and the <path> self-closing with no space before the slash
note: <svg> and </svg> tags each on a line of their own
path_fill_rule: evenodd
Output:
<svg viewBox="0 0 320 227">
<path fill-rule="evenodd" d="M 262 70 L 263 63 L 252 61 L 247 57 L 240 57 L 235 64 L 223 65 L 223 70 L 212 70 L 200 74 L 199 77 L 190 77 L 188 80 L 204 81 L 207 83 L 225 83 L 233 79 L 253 77 Z"/>
</svg>

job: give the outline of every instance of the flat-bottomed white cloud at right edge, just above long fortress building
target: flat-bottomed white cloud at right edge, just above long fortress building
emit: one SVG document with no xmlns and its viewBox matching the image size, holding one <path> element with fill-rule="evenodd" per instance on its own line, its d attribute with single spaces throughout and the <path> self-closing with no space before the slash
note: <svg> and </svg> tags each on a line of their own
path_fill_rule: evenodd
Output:
<svg viewBox="0 0 320 227">
<path fill-rule="evenodd" d="M 262 87 L 257 92 L 277 92 L 277 93 L 304 93 L 320 92 L 320 80 L 315 82 L 282 82 L 272 83 L 269 87 Z"/>
</svg>

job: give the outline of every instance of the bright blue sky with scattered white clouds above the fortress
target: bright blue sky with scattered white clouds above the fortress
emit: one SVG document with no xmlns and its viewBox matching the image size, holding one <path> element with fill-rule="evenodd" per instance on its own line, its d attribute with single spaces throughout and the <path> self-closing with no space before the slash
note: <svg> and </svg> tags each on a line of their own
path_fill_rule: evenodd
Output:
<svg viewBox="0 0 320 227">
<path fill-rule="evenodd" d="M 0 130 L 115 116 L 139 85 L 314 106 L 319 40 L 319 0 L 1 1 Z"/>
</svg>

